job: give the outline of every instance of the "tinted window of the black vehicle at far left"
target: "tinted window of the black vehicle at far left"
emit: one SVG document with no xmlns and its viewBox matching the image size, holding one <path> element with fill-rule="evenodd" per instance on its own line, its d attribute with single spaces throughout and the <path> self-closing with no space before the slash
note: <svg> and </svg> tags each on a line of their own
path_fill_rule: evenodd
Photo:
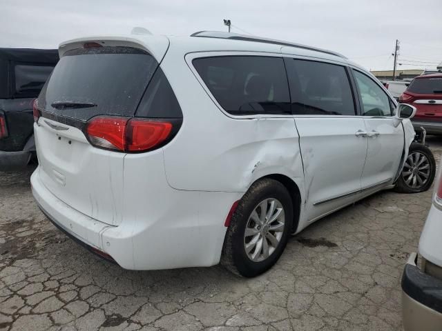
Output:
<svg viewBox="0 0 442 331">
<path fill-rule="evenodd" d="M 14 66 L 14 91 L 15 97 L 37 97 L 48 79 L 53 66 L 31 66 L 16 64 Z"/>
</svg>

